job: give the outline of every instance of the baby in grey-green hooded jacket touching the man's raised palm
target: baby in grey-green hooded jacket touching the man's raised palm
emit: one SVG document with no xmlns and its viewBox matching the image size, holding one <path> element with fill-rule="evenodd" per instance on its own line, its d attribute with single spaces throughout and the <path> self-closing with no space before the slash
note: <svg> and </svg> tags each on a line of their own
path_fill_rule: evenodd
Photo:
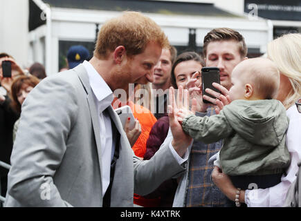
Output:
<svg viewBox="0 0 301 221">
<path fill-rule="evenodd" d="M 236 187 L 274 186 L 290 162 L 285 146 L 289 126 L 286 110 L 273 99 L 280 73 L 269 59 L 246 59 L 232 71 L 231 83 L 232 102 L 219 115 L 197 117 L 181 109 L 178 120 L 194 140 L 210 144 L 224 139 L 215 165 Z"/>
</svg>

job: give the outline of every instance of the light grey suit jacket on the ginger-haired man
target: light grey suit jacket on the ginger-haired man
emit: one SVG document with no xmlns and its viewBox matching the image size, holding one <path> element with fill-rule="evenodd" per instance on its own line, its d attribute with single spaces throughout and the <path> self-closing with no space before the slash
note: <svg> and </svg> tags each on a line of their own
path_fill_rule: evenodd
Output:
<svg viewBox="0 0 301 221">
<path fill-rule="evenodd" d="M 8 174 L 5 206 L 102 206 L 100 125 L 89 77 L 80 65 L 41 81 L 26 98 Z M 181 173 L 170 148 L 151 160 L 134 155 L 113 108 L 120 133 L 111 206 L 133 206 L 133 193 L 145 195 Z"/>
</svg>

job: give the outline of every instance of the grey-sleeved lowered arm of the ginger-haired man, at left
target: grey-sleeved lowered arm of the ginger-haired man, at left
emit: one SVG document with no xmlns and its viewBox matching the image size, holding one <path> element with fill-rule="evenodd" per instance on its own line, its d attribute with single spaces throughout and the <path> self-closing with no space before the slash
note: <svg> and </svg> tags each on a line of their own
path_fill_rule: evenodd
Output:
<svg viewBox="0 0 301 221">
<path fill-rule="evenodd" d="M 53 176 L 64 157 L 77 107 L 75 88 L 58 77 L 45 79 L 26 98 L 8 173 L 8 194 L 21 206 L 70 206 Z"/>
</svg>

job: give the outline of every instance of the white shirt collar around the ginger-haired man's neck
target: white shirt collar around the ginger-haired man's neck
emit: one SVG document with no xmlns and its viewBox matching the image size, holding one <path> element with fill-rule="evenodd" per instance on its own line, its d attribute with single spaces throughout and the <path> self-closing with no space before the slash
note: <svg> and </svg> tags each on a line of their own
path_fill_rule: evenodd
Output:
<svg viewBox="0 0 301 221">
<path fill-rule="evenodd" d="M 84 61 L 82 64 L 88 73 L 91 89 L 98 102 L 101 102 L 100 111 L 103 111 L 113 102 L 113 92 L 90 62 Z"/>
</svg>

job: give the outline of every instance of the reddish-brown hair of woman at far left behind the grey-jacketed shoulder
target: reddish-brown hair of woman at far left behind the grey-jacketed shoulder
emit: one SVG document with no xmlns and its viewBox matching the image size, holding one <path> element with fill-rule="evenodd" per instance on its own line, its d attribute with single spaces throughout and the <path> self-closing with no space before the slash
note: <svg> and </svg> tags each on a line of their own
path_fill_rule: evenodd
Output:
<svg viewBox="0 0 301 221">
<path fill-rule="evenodd" d="M 21 113 L 21 104 L 18 101 L 17 94 L 24 86 L 32 86 L 33 88 L 39 84 L 39 79 L 33 75 L 22 75 L 14 81 L 12 81 L 11 86 L 11 97 L 12 97 L 12 108 L 15 109 L 18 113 Z"/>
</svg>

